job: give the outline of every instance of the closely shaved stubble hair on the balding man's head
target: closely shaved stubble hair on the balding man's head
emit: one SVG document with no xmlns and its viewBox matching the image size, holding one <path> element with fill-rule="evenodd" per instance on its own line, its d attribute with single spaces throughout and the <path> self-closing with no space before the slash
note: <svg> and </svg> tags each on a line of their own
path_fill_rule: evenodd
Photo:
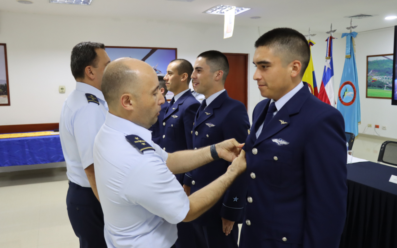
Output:
<svg viewBox="0 0 397 248">
<path fill-rule="evenodd" d="M 138 80 L 139 77 L 137 73 L 123 64 L 123 62 L 116 62 L 106 66 L 102 77 L 101 88 L 108 105 L 113 106 L 122 94 L 134 94 L 134 92 L 132 92 L 133 85 L 136 84 Z"/>
</svg>

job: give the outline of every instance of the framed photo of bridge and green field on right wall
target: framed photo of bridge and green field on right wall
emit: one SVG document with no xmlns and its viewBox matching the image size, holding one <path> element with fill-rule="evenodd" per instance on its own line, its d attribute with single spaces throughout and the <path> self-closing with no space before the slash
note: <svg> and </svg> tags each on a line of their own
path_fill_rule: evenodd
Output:
<svg viewBox="0 0 397 248">
<path fill-rule="evenodd" d="M 391 99 L 393 54 L 367 56 L 366 98 Z"/>
</svg>

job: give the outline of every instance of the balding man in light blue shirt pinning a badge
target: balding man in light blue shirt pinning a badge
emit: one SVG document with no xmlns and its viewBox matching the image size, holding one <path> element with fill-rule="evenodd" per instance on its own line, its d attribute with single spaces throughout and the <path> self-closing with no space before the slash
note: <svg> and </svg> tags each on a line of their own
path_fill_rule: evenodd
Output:
<svg viewBox="0 0 397 248">
<path fill-rule="evenodd" d="M 109 112 L 93 153 L 106 243 L 109 248 L 175 247 L 176 224 L 208 210 L 245 171 L 243 144 L 231 139 L 168 154 L 152 142 L 148 128 L 156 122 L 164 97 L 156 73 L 140 60 L 111 62 L 102 91 Z M 233 163 L 224 175 L 187 197 L 173 174 L 218 158 Z"/>
</svg>

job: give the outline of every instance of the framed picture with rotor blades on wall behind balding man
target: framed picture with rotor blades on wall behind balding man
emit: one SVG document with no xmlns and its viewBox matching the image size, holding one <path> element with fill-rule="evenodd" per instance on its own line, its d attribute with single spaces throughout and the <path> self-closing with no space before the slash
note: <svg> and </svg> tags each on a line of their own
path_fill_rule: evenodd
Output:
<svg viewBox="0 0 397 248">
<path fill-rule="evenodd" d="M 177 58 L 177 48 L 106 46 L 106 52 L 111 61 L 123 57 L 145 61 L 159 76 L 166 75 L 168 64 Z M 172 92 L 168 92 L 167 100 L 172 97 Z"/>
</svg>

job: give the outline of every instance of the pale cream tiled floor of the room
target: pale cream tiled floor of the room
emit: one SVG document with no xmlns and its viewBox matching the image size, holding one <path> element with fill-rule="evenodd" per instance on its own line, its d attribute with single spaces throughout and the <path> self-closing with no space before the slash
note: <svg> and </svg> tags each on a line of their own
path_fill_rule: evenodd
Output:
<svg viewBox="0 0 397 248">
<path fill-rule="evenodd" d="M 386 138 L 360 135 L 353 156 L 376 162 Z M 0 173 L 0 248 L 78 248 L 64 168 Z"/>
</svg>

